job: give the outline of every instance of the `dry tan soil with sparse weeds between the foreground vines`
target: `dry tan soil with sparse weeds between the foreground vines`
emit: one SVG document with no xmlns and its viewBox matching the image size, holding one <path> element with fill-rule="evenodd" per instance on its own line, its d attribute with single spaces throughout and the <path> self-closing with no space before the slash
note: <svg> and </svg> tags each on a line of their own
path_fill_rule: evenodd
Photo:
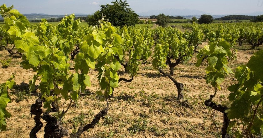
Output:
<svg viewBox="0 0 263 138">
<path fill-rule="evenodd" d="M 235 68 L 246 64 L 255 51 L 239 51 L 237 61 L 230 61 L 229 66 Z M 8 53 L 0 51 L 0 59 L 7 58 Z M 21 58 L 12 58 L 8 68 L 0 68 L 0 83 L 5 82 L 14 73 L 17 84 L 9 93 L 12 103 L 8 104 L 7 110 L 12 117 L 7 119 L 7 131 L 0 131 L 0 137 L 3 138 L 27 138 L 35 125 L 30 106 L 37 99 L 38 90 L 28 91 L 28 82 L 35 73 L 23 69 L 19 65 L 21 61 Z M 184 84 L 184 99 L 188 100 L 190 106 L 179 104 L 176 100 L 177 88 L 168 77 L 154 70 L 151 64 L 142 65 L 132 82 L 120 82 L 110 99 L 108 114 L 95 128 L 84 132 L 82 137 L 221 137 L 223 114 L 204 105 L 204 101 L 214 89 L 205 82 L 206 65 L 195 67 L 196 61 L 193 57 L 188 63 L 176 66 L 174 72 L 178 82 Z M 168 68 L 165 71 L 168 72 Z M 85 93 L 80 93 L 79 100 L 72 104 L 63 118 L 62 125 L 70 134 L 75 133 L 79 126 L 90 123 L 95 115 L 106 107 L 106 102 L 100 102 L 95 94 L 99 86 L 96 74 L 96 71 L 90 71 L 92 86 L 87 88 Z M 126 74 L 120 77 L 130 78 Z M 230 104 L 227 87 L 233 84 L 233 81 L 234 75 L 226 78 L 222 89 L 213 99 L 215 103 Z M 60 106 L 66 108 L 62 103 Z M 44 127 L 39 131 L 38 137 L 42 138 L 43 134 Z"/>
</svg>

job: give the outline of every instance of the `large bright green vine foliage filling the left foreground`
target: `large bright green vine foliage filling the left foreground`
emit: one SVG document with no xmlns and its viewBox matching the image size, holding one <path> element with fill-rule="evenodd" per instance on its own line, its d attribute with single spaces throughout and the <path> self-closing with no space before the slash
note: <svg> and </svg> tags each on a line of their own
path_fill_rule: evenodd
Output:
<svg viewBox="0 0 263 138">
<path fill-rule="evenodd" d="M 41 117 L 48 121 L 47 125 L 52 126 L 53 117 L 48 115 L 50 112 L 58 112 L 60 123 L 72 101 L 78 99 L 78 93 L 84 92 L 86 87 L 91 85 L 88 76 L 90 69 L 98 70 L 100 87 L 97 94 L 102 96 L 101 100 L 107 101 L 113 88 L 118 87 L 117 71 L 121 64 L 116 57 L 122 60 L 123 40 L 110 22 L 100 20 L 100 26 L 89 29 L 88 33 L 82 32 L 85 36 L 78 37 L 80 21 L 74 20 L 74 14 L 65 16 L 57 26 L 52 26 L 42 19 L 41 23 L 29 27 L 26 17 L 12 9 L 13 7 L 7 8 L 4 4 L 0 8 L 7 32 L 18 50 L 23 52 L 23 68 L 32 68 L 36 72 L 29 83 L 30 90 L 33 91 L 36 81 L 39 81 L 41 99 L 44 101 L 44 108 L 47 109 Z M 69 56 L 75 48 L 75 43 L 79 43 L 80 50 L 74 60 L 75 73 L 72 73 L 69 70 Z M 70 100 L 70 104 L 66 111 L 60 112 L 57 103 L 62 98 Z M 41 103 L 41 100 L 36 101 L 38 106 L 32 106 L 40 108 L 42 104 L 37 104 L 39 102 Z M 107 108 L 108 102 L 102 115 L 106 114 Z M 50 127 L 47 125 L 46 128 Z M 45 129 L 45 133 L 56 129 Z M 63 135 L 66 134 L 66 131 L 63 132 Z"/>
</svg>

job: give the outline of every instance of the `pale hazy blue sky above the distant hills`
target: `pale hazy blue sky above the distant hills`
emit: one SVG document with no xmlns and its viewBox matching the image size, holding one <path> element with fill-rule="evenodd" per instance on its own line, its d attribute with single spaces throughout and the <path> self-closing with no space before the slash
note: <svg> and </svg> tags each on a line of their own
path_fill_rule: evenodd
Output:
<svg viewBox="0 0 263 138">
<path fill-rule="evenodd" d="M 0 0 L 0 4 L 14 5 L 20 13 L 46 13 L 65 15 L 71 13 L 91 14 L 100 5 L 114 0 Z M 263 12 L 263 0 L 127 0 L 136 13 L 162 9 L 195 9 L 210 13 L 238 14 Z"/>
</svg>

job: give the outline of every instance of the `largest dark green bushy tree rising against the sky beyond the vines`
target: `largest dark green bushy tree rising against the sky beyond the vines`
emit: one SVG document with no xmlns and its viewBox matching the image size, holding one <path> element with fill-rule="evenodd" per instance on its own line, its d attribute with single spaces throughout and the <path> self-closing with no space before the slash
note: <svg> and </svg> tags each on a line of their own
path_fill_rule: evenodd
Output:
<svg viewBox="0 0 263 138">
<path fill-rule="evenodd" d="M 108 19 L 114 26 L 135 26 L 138 22 L 137 15 L 126 2 L 122 0 L 111 2 L 113 5 L 106 4 L 101 5 L 101 14 L 105 16 L 105 19 Z"/>
</svg>

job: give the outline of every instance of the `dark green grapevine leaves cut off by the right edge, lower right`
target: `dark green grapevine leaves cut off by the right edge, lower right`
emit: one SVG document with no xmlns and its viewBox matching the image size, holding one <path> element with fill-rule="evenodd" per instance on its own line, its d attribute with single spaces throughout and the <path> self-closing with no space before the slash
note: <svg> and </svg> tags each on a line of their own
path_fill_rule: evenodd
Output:
<svg viewBox="0 0 263 138">
<path fill-rule="evenodd" d="M 246 128 L 243 132 L 237 128 L 237 137 L 243 135 L 260 135 L 263 131 L 262 95 L 263 95 L 263 50 L 254 53 L 247 65 L 238 66 L 235 70 L 237 83 L 231 85 L 228 90 L 229 100 L 232 101 L 226 111 L 230 123 L 228 131 L 238 125 Z"/>
</svg>

